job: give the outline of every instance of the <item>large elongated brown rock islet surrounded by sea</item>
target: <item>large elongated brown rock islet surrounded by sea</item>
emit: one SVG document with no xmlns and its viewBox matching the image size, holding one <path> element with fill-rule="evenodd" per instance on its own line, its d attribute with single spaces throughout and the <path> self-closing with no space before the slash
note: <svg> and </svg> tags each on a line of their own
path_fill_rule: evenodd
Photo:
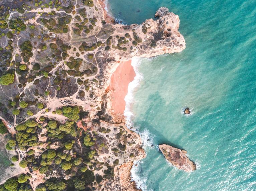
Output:
<svg viewBox="0 0 256 191">
<path fill-rule="evenodd" d="M 177 168 L 186 172 L 196 170 L 196 164 L 189 160 L 186 155 L 186 150 L 181 150 L 167 144 L 160 144 L 159 148 L 164 154 L 166 160 Z"/>
</svg>

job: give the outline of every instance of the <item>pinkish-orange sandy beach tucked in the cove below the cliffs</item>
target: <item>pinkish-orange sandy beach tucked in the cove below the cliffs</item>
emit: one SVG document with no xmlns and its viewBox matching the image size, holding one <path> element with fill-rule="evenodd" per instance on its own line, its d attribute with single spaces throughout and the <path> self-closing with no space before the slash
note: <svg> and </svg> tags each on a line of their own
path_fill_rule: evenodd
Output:
<svg viewBox="0 0 256 191">
<path fill-rule="evenodd" d="M 128 85 L 136 76 L 132 60 L 122 62 L 111 75 L 108 90 L 111 91 L 112 113 L 123 115 L 125 109 L 124 97 L 128 92 Z"/>
</svg>

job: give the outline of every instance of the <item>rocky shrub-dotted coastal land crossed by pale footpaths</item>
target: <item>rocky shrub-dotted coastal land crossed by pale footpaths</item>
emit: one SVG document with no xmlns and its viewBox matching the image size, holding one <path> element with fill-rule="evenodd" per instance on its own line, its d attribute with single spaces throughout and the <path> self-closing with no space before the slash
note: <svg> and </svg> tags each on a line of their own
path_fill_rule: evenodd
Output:
<svg viewBox="0 0 256 191">
<path fill-rule="evenodd" d="M 109 112 L 122 61 L 180 52 L 179 17 L 115 24 L 99 0 L 3 0 L 0 133 L 13 173 L 0 190 L 136 190 L 141 139 Z M 18 167 L 18 165 L 20 167 Z M 21 168 L 21 170 L 15 170 Z"/>
</svg>

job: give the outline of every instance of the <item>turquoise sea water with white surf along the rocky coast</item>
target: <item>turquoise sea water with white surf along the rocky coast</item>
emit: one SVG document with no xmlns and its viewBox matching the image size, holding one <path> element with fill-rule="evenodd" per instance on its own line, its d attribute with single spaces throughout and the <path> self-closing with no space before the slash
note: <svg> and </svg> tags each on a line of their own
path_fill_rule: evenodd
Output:
<svg viewBox="0 0 256 191">
<path fill-rule="evenodd" d="M 124 23 L 165 6 L 180 17 L 187 48 L 141 59 L 134 128 L 147 157 L 133 168 L 143 191 L 256 190 L 256 1 L 108 0 Z M 191 116 L 182 114 L 184 107 Z M 197 170 L 169 165 L 157 145 L 187 150 Z M 151 146 L 153 145 L 153 147 Z"/>
</svg>

